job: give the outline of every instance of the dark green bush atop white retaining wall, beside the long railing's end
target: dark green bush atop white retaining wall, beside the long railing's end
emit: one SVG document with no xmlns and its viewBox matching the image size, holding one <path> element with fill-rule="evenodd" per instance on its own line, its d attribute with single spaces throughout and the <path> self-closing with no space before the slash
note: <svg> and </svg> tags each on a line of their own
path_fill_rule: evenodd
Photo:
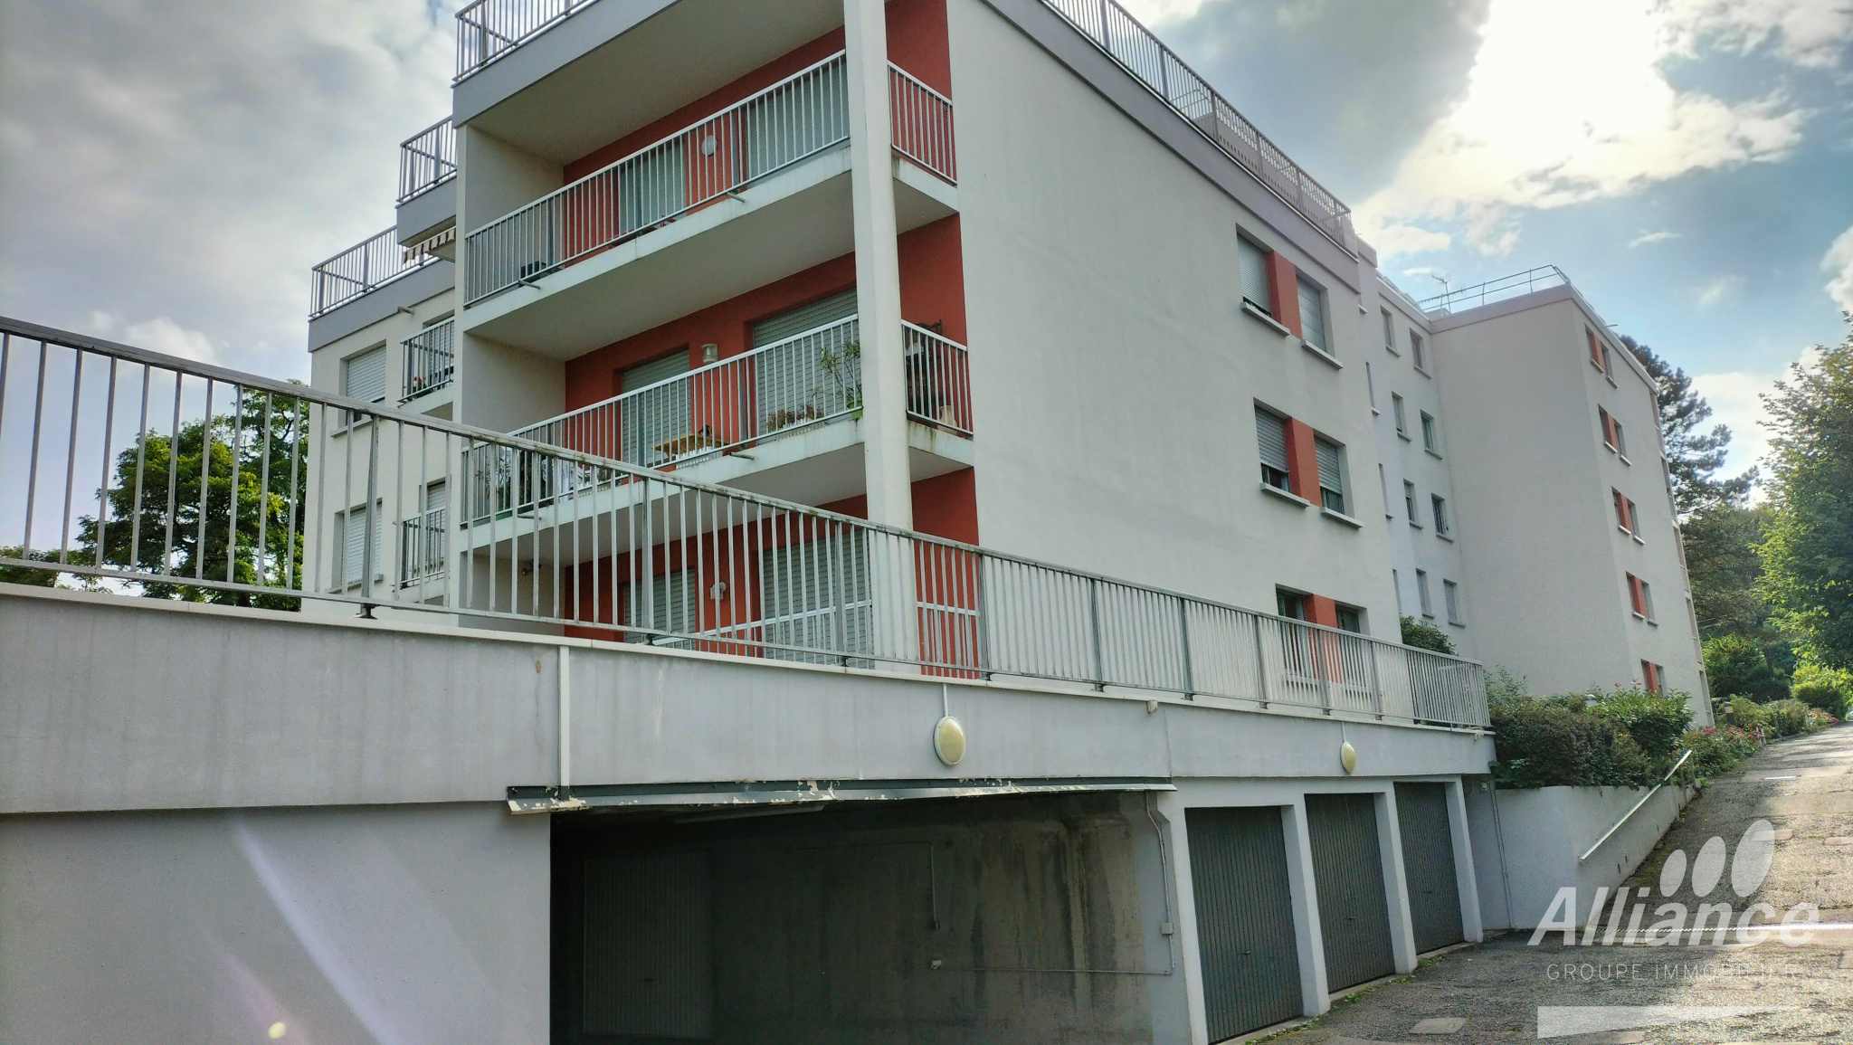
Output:
<svg viewBox="0 0 1853 1045">
<path fill-rule="evenodd" d="M 1494 778 L 1501 787 L 1647 784 L 1653 760 L 1618 723 L 1562 700 L 1494 710 Z"/>
</svg>

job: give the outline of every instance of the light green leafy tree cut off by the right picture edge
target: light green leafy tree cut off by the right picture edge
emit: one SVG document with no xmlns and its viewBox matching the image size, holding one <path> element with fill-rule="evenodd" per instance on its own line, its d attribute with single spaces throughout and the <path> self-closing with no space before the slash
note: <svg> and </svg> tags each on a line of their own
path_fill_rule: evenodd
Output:
<svg viewBox="0 0 1853 1045">
<path fill-rule="evenodd" d="M 1853 313 L 1816 365 L 1762 397 L 1775 517 L 1758 552 L 1762 595 L 1803 660 L 1853 667 Z"/>
</svg>

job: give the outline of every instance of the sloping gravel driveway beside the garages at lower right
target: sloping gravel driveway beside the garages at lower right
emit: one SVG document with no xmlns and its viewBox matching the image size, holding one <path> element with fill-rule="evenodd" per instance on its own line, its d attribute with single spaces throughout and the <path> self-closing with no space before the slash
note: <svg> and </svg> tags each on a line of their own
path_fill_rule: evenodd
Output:
<svg viewBox="0 0 1853 1045">
<path fill-rule="evenodd" d="M 1714 782 L 1692 800 L 1632 884 L 1657 886 L 1673 850 L 1683 850 L 1690 867 L 1714 836 L 1736 852 L 1758 817 L 1792 832 L 1777 834 L 1762 889 L 1738 900 L 1720 886 L 1710 899 L 1733 900 L 1738 912 L 1746 902 L 1788 910 L 1807 900 L 1821 908 L 1823 923 L 1853 923 L 1853 726 L 1773 743 L 1740 773 Z M 1690 886 L 1673 900 L 1692 906 Z M 1651 902 L 1666 900 L 1655 889 Z M 1777 1006 L 1766 1014 L 1714 1014 L 1649 1026 L 1640 1038 L 1557 1038 L 1569 1045 L 1853 1045 L 1853 930 L 1820 932 L 1803 947 L 1773 936 L 1753 947 L 1564 947 L 1562 934 L 1529 947 L 1529 932 L 1514 932 L 1431 958 L 1412 976 L 1343 999 L 1317 1021 L 1273 1036 L 1271 1045 L 1536 1039 L 1540 1006 Z M 1573 969 L 1568 976 L 1566 963 Z M 1445 1036 L 1412 1032 L 1432 1017 L 1466 1017 L 1466 1025 Z"/>
</svg>

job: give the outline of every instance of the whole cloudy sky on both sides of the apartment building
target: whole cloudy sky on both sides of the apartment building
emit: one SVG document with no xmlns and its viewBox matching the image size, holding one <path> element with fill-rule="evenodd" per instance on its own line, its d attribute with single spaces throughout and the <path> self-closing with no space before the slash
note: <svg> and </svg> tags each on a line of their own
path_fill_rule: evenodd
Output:
<svg viewBox="0 0 1853 1045">
<path fill-rule="evenodd" d="M 1853 309 L 1853 0 L 1123 0 L 1416 296 L 1558 265 L 1762 448 Z M 454 0 L 0 0 L 0 313 L 308 376 Z"/>
</svg>

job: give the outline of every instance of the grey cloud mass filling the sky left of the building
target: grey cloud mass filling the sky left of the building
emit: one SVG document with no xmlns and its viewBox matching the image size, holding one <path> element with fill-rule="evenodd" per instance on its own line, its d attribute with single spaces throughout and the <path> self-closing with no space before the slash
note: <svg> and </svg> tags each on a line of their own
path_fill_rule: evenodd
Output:
<svg viewBox="0 0 1853 1045">
<path fill-rule="evenodd" d="M 391 224 L 452 31 L 424 0 L 9 0 L 0 311 L 306 374 L 309 267 Z"/>
</svg>

